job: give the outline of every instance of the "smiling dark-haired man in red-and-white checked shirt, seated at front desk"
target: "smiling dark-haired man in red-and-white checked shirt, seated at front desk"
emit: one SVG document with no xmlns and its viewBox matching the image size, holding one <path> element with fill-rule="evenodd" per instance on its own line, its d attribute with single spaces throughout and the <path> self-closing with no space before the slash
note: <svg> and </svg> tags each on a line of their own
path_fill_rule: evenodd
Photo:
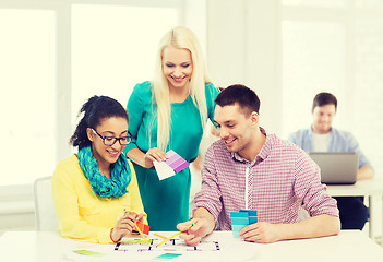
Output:
<svg viewBox="0 0 383 262">
<path fill-rule="evenodd" d="M 338 234 L 336 201 L 321 184 L 319 167 L 301 148 L 259 126 L 256 94 L 231 85 L 215 102 L 220 141 L 206 152 L 196 209 L 191 221 L 178 225 L 180 237 L 195 246 L 215 228 L 231 230 L 230 212 L 239 210 L 258 210 L 259 222 L 240 231 L 246 241 Z M 299 222 L 301 209 L 311 217 Z"/>
</svg>

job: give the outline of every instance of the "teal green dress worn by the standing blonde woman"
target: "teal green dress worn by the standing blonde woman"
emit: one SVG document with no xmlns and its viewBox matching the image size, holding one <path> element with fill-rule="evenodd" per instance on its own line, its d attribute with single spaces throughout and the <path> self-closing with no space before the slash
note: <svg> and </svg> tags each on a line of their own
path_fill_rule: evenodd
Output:
<svg viewBox="0 0 383 262">
<path fill-rule="evenodd" d="M 213 121 L 214 100 L 218 91 L 213 84 L 205 84 L 207 116 Z M 132 142 L 127 153 L 140 148 L 146 153 L 157 146 L 157 121 L 151 82 L 137 84 L 128 102 L 129 132 Z M 149 138 L 149 132 L 152 135 Z M 167 151 L 173 150 L 187 162 L 193 162 L 199 154 L 203 130 L 200 112 L 189 96 L 183 103 L 171 104 L 170 141 Z M 166 152 L 167 152 L 166 151 Z M 148 217 L 151 230 L 177 230 L 178 223 L 189 219 L 190 170 L 159 180 L 156 170 L 134 165 L 140 193 Z"/>
</svg>

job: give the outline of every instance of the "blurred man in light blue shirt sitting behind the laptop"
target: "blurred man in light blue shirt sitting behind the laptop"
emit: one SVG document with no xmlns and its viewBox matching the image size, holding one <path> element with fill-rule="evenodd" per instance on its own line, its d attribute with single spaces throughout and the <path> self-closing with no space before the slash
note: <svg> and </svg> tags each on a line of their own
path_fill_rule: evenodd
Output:
<svg viewBox="0 0 383 262">
<path fill-rule="evenodd" d="M 333 94 L 320 93 L 312 104 L 313 122 L 308 129 L 291 133 L 288 140 L 307 152 L 357 152 L 359 170 L 357 180 L 370 179 L 374 171 L 354 135 L 332 127 L 337 99 Z M 342 229 L 362 229 L 368 216 L 363 196 L 337 196 Z"/>
</svg>

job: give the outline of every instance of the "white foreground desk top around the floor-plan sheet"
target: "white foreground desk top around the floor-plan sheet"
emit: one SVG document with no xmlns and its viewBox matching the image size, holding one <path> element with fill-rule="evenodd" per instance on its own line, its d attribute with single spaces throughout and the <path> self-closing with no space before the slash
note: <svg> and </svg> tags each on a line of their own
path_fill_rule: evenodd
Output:
<svg viewBox="0 0 383 262">
<path fill-rule="evenodd" d="M 216 231 L 208 238 L 217 239 L 220 242 L 239 241 L 232 238 L 231 231 Z M 7 231 L 0 237 L 0 261 L 70 261 L 64 255 L 65 250 L 70 250 L 81 245 L 86 246 L 86 243 L 84 245 L 79 241 L 64 239 L 59 236 L 58 233 Z M 359 230 L 345 230 L 338 236 L 324 238 L 288 240 L 266 245 L 247 242 L 246 245 L 248 245 L 247 250 L 252 248 L 256 250 L 255 254 L 247 260 L 254 262 L 383 261 L 383 248 L 378 246 L 373 240 Z M 105 247 L 105 245 L 103 246 Z M 229 251 L 236 252 L 238 249 L 232 247 Z M 172 259 L 171 261 L 184 261 L 181 257 Z M 127 255 L 125 261 L 132 262 L 134 260 L 129 259 L 129 255 Z M 202 259 L 199 261 L 204 260 Z M 217 261 L 217 259 L 210 255 L 208 261 L 213 262 Z M 223 260 L 219 261 L 222 262 Z"/>
</svg>

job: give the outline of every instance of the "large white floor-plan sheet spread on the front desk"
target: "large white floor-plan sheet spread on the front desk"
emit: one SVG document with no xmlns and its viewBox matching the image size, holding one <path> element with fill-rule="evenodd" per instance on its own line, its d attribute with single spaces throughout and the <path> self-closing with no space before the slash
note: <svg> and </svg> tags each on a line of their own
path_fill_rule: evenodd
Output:
<svg viewBox="0 0 383 262">
<path fill-rule="evenodd" d="M 164 239 L 151 231 L 147 237 L 151 245 L 142 238 L 129 236 L 115 245 L 79 243 L 70 247 L 64 254 L 71 261 L 80 262 L 158 261 L 158 257 L 175 262 L 232 262 L 248 261 L 256 253 L 258 243 L 232 238 L 230 231 L 220 231 L 217 237 L 214 235 L 204 238 L 196 247 L 187 246 L 184 240 L 177 237 L 157 247 Z"/>
</svg>

